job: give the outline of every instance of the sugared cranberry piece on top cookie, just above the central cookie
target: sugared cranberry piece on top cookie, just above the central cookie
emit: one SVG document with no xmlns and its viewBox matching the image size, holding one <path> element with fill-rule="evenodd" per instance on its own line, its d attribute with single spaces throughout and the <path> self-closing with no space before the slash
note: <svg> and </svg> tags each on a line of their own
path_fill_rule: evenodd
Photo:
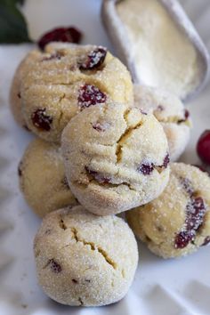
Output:
<svg viewBox="0 0 210 315">
<path fill-rule="evenodd" d="M 85 109 L 97 103 L 104 103 L 106 100 L 107 96 L 94 85 L 83 85 L 79 89 L 77 101 L 81 109 Z"/>
</svg>

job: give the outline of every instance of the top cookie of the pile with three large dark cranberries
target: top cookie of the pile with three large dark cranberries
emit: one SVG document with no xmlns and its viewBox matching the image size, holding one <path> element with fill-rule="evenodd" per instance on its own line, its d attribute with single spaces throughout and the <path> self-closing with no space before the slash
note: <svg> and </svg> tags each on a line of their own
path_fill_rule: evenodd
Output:
<svg viewBox="0 0 210 315">
<path fill-rule="evenodd" d="M 131 104 L 130 74 L 104 47 L 50 44 L 28 63 L 21 85 L 28 128 L 46 141 L 61 132 L 78 112 L 111 99 Z"/>
</svg>

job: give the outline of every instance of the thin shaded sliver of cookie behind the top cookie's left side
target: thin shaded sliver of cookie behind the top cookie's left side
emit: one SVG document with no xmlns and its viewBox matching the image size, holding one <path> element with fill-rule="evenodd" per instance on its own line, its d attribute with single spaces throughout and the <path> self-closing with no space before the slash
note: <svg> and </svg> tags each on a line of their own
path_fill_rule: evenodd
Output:
<svg viewBox="0 0 210 315">
<path fill-rule="evenodd" d="M 13 117 L 15 121 L 21 126 L 28 129 L 25 119 L 21 111 L 21 94 L 20 86 L 21 82 L 28 73 L 29 65 L 36 60 L 37 51 L 29 52 L 27 57 L 20 62 L 19 67 L 16 69 L 14 77 L 12 79 L 12 85 L 10 89 L 10 105 Z"/>
</svg>

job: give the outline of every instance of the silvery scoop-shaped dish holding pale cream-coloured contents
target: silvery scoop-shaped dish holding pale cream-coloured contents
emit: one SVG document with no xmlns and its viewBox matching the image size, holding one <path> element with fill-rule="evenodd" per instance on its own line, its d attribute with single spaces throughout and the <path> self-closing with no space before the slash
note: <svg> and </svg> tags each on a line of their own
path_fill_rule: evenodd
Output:
<svg viewBox="0 0 210 315">
<path fill-rule="evenodd" d="M 101 16 L 134 83 L 166 89 L 184 101 L 206 85 L 206 46 L 176 0 L 104 0 Z"/>
</svg>

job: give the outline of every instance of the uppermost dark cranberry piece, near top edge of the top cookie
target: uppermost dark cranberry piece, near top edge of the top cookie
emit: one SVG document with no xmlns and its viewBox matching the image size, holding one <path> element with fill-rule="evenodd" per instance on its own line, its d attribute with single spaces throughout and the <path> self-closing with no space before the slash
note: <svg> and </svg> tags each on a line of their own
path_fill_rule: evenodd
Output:
<svg viewBox="0 0 210 315">
<path fill-rule="evenodd" d="M 105 60 L 106 55 L 107 50 L 105 48 L 98 47 L 94 49 L 92 52 L 88 53 L 87 60 L 80 65 L 79 69 L 91 70 L 99 68 L 103 61 Z"/>
</svg>

